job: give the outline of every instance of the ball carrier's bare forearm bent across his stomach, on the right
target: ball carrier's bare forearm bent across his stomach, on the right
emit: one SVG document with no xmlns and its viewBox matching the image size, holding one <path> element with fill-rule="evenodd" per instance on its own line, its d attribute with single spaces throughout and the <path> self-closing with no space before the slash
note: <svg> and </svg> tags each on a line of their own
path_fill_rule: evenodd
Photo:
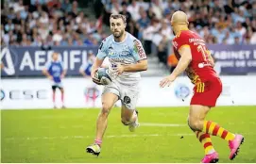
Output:
<svg viewBox="0 0 256 164">
<path fill-rule="evenodd" d="M 122 74 L 124 72 L 134 73 L 142 72 L 147 70 L 147 59 L 139 60 L 136 64 L 129 65 L 118 65 L 116 69 L 117 74 Z"/>
</svg>

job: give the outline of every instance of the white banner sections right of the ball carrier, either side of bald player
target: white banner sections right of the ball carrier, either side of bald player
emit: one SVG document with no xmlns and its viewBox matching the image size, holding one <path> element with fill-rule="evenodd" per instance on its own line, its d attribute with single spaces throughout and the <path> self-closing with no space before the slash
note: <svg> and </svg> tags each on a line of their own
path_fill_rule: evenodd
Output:
<svg viewBox="0 0 256 164">
<path fill-rule="evenodd" d="M 217 106 L 256 106 L 256 76 L 221 76 L 223 90 Z M 162 77 L 143 78 L 139 107 L 189 106 L 194 85 L 188 77 L 179 77 L 161 89 Z"/>
</svg>

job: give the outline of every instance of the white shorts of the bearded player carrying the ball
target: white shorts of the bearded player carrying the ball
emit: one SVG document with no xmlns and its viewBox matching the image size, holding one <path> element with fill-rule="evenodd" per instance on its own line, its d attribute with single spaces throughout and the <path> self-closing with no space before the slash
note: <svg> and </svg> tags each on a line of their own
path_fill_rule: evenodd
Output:
<svg viewBox="0 0 256 164">
<path fill-rule="evenodd" d="M 140 93 L 139 85 L 128 87 L 115 81 L 111 82 L 110 85 L 105 86 L 102 94 L 107 92 L 116 94 L 121 100 L 122 106 L 125 106 L 128 109 L 135 109 Z"/>
</svg>

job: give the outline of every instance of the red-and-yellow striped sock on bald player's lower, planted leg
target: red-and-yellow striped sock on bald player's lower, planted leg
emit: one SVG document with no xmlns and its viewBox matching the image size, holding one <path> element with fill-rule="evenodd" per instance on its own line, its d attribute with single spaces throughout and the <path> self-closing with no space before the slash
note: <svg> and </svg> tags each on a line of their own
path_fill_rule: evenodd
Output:
<svg viewBox="0 0 256 164">
<path fill-rule="evenodd" d="M 205 155 L 210 155 L 215 152 L 211 136 L 204 132 L 196 131 L 196 138 L 203 144 Z"/>
</svg>

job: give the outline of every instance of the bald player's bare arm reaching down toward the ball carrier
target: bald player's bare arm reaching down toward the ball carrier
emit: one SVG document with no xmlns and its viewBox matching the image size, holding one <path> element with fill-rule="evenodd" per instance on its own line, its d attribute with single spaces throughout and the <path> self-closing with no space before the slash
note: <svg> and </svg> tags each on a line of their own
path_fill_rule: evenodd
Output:
<svg viewBox="0 0 256 164">
<path fill-rule="evenodd" d="M 179 74 L 183 73 L 188 67 L 192 60 L 191 49 L 189 46 L 182 46 L 179 48 L 180 59 L 177 67 L 172 74 L 164 77 L 160 82 L 160 87 L 170 86 L 170 84 L 178 77 Z"/>
</svg>

